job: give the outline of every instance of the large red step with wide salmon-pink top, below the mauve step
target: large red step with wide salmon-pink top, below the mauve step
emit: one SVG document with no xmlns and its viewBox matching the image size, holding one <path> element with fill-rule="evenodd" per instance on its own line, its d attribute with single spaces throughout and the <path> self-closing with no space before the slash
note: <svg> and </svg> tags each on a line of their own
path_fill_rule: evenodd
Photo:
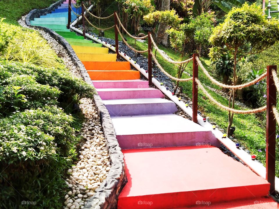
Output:
<svg viewBox="0 0 279 209">
<path fill-rule="evenodd" d="M 269 183 L 265 179 L 216 147 L 145 148 L 122 152 L 128 183 L 118 197 L 118 209 L 183 208 L 199 203 L 203 204 L 202 208 L 208 208 L 221 201 L 262 200 L 269 193 Z M 256 208 L 260 207 L 256 205 Z"/>
</svg>

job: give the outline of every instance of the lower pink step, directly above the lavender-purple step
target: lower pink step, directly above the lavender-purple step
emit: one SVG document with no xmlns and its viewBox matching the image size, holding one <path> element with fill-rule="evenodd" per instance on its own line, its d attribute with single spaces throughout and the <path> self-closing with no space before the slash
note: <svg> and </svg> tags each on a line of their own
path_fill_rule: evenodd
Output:
<svg viewBox="0 0 279 209">
<path fill-rule="evenodd" d="M 137 98 L 164 98 L 159 89 L 130 88 L 130 89 L 96 89 L 102 100 L 137 99 Z"/>
</svg>

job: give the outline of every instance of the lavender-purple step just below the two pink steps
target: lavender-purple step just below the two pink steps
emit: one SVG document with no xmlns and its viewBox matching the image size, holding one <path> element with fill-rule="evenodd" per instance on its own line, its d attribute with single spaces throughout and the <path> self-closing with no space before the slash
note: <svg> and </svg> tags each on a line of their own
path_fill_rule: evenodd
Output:
<svg viewBox="0 0 279 209">
<path fill-rule="evenodd" d="M 103 100 L 110 116 L 170 114 L 177 111 L 171 100 L 162 98 Z"/>
</svg>

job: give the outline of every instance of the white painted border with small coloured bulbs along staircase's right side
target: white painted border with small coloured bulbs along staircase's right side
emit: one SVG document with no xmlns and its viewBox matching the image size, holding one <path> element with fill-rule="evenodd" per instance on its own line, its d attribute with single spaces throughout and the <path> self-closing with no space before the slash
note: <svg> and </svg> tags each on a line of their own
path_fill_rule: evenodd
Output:
<svg viewBox="0 0 279 209">
<path fill-rule="evenodd" d="M 90 9 L 91 8 L 92 8 L 92 6 L 90 6 Z M 71 24 L 70 28 L 80 34 L 83 34 L 81 30 L 74 27 L 75 24 L 76 24 L 76 21 L 74 21 Z M 94 40 L 95 42 L 103 44 L 103 46 L 110 48 L 112 51 L 115 51 L 114 46 L 111 46 L 108 43 L 106 44 L 104 41 L 101 41 L 100 39 L 97 39 L 96 37 L 93 37 L 92 35 L 89 35 L 87 33 L 85 34 L 85 36 L 87 38 Z M 140 71 L 140 73 L 142 73 L 148 79 L 148 73 L 146 73 L 145 70 L 143 68 L 141 68 L 139 64 L 135 63 L 135 61 L 132 60 L 129 56 L 127 56 L 127 55 L 124 56 L 124 54 L 125 53 L 123 53 L 122 51 L 121 51 L 121 53 L 119 53 L 119 55 L 121 57 L 123 57 L 125 60 L 130 62 L 131 65 L 133 65 L 138 71 Z M 185 103 L 183 101 L 179 101 L 177 96 L 172 95 L 171 92 L 169 90 L 167 90 L 166 87 L 161 86 L 161 83 L 158 80 L 156 80 L 155 78 L 152 78 L 152 83 L 158 89 L 160 89 L 167 97 L 169 97 L 176 105 L 178 105 L 178 107 L 180 107 L 185 113 L 187 113 L 189 116 L 192 117 L 193 110 L 191 107 L 186 107 Z M 215 129 L 215 130 L 212 129 L 212 125 L 208 121 L 203 122 L 203 117 L 201 117 L 199 114 L 198 114 L 198 124 L 201 125 L 202 127 L 205 127 L 207 129 L 211 130 L 212 133 L 216 136 L 216 138 L 223 145 L 225 145 L 233 154 L 235 154 L 239 159 L 241 159 L 256 174 L 258 174 L 259 176 L 262 176 L 264 179 L 266 179 L 266 168 L 264 167 L 264 165 L 262 163 L 260 163 L 258 161 L 253 161 L 251 159 L 251 155 L 248 154 L 247 152 L 245 152 L 244 149 L 237 149 L 235 146 L 235 143 L 230 138 L 228 138 L 228 137 L 222 138 L 223 133 L 221 131 L 219 131 L 218 129 Z M 275 177 L 275 190 L 279 191 L 279 178 L 278 177 Z"/>
</svg>

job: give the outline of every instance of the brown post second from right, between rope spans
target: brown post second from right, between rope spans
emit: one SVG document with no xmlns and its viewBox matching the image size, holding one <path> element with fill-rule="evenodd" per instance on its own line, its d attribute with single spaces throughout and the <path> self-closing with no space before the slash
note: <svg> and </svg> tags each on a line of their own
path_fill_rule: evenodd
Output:
<svg viewBox="0 0 279 209">
<path fill-rule="evenodd" d="M 198 78 L 198 62 L 196 57 L 198 54 L 193 54 L 193 86 L 192 86 L 192 120 L 195 123 L 198 123 L 198 84 L 195 78 Z"/>
</svg>

